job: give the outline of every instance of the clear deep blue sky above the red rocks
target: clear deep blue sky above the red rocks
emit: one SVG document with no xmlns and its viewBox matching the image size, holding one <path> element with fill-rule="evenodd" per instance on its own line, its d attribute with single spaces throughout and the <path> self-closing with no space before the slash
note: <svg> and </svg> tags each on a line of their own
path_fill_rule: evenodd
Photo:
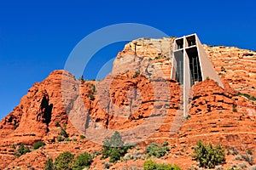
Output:
<svg viewBox="0 0 256 170">
<path fill-rule="evenodd" d="M 0 1 L 0 119 L 34 82 L 63 69 L 74 46 L 92 31 L 118 23 L 154 26 L 170 36 L 197 33 L 201 42 L 256 50 L 251 1 Z M 84 77 L 113 58 L 125 42 L 102 49 Z"/>
</svg>

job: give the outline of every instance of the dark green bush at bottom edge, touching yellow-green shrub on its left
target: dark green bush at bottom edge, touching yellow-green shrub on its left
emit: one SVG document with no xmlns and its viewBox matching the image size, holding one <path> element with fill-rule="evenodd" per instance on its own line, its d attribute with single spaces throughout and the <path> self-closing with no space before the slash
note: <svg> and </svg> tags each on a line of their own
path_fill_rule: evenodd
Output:
<svg viewBox="0 0 256 170">
<path fill-rule="evenodd" d="M 82 170 L 84 167 L 89 167 L 91 164 L 93 156 L 90 153 L 85 152 L 84 154 L 80 154 L 74 160 L 74 170 Z"/>
</svg>

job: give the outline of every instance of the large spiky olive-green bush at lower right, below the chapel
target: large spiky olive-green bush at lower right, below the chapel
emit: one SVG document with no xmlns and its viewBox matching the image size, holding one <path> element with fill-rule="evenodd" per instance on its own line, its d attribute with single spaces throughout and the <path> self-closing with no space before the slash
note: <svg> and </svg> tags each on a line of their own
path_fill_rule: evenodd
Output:
<svg viewBox="0 0 256 170">
<path fill-rule="evenodd" d="M 194 155 L 195 161 L 199 161 L 200 167 L 214 168 L 216 165 L 225 162 L 225 150 L 221 144 L 212 147 L 212 144 L 204 144 L 201 140 L 197 141 Z"/>
</svg>

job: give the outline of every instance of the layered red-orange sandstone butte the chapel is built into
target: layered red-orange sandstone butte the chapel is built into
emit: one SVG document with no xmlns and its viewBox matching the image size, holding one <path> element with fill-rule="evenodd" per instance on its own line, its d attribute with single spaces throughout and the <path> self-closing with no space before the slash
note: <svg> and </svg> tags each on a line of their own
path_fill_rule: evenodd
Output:
<svg viewBox="0 0 256 170">
<path fill-rule="evenodd" d="M 100 82 L 81 82 L 67 71 L 53 71 L 43 82 L 36 82 L 20 99 L 20 105 L 0 122 L 0 169 L 42 169 L 44 161 L 49 157 L 55 159 L 62 151 L 68 150 L 79 155 L 84 151 L 92 153 L 102 149 L 101 144 L 89 139 L 80 139 L 81 129 L 78 130 L 73 124 L 84 125 L 85 121 L 78 118 L 75 112 L 67 113 L 65 110 L 67 105 L 64 105 L 66 101 L 63 101 L 65 98 L 62 98 L 61 94 L 63 77 L 67 85 L 73 84 L 67 87 L 73 89 L 70 89 L 70 96 L 74 97 L 79 92 L 84 108 L 90 111 L 88 114 L 93 120 L 90 126 L 93 127 L 114 130 L 138 127 L 148 122 L 150 116 L 154 116 L 152 110 L 155 105 L 160 109 L 165 107 L 166 112 L 162 114 L 166 115 L 161 124 L 153 128 L 150 135 L 139 143 L 140 151 L 143 152 L 151 142 L 169 142 L 172 150 L 161 159 L 156 159 L 157 162 L 175 163 L 183 168 L 197 165 L 190 155 L 193 152 L 191 147 L 198 139 L 212 144 L 221 143 L 241 152 L 256 150 L 255 101 L 236 95 L 239 91 L 256 96 L 256 53 L 235 47 L 204 45 L 212 65 L 224 83 L 224 88 L 220 88 L 212 80 L 195 84 L 191 94 L 190 118 L 184 120 L 178 111 L 181 87 L 177 81 L 169 78 L 174 39 L 141 38 L 126 44 L 113 62 L 112 73 Z M 135 76 L 137 72 L 140 74 Z M 161 92 L 159 95 L 168 99 L 156 104 L 154 88 L 161 88 L 161 84 L 156 83 L 153 87 L 151 82 L 158 73 L 165 78 L 163 81 L 170 93 Z M 95 97 L 93 100 L 90 95 L 94 85 L 96 91 L 92 94 Z M 136 89 L 138 92 L 134 93 Z M 111 102 L 105 99 L 106 96 Z M 233 105 L 236 105 L 236 112 L 232 111 Z M 73 108 L 79 107 L 78 103 L 73 103 Z M 116 115 L 116 108 L 122 108 L 119 111 L 124 115 Z M 57 141 L 60 127 L 55 126 L 56 122 L 66 124 L 72 141 Z M 146 131 L 148 127 L 144 129 Z M 143 135 L 142 131 L 135 133 Z M 39 140 L 43 140 L 46 145 L 26 155 L 14 156 L 15 149 L 11 147 L 12 144 L 24 143 L 32 147 L 32 144 Z M 103 169 L 103 161 L 108 160 L 101 160 L 100 156 L 97 156 L 90 169 Z M 119 161 L 110 168 L 143 167 L 144 161 Z M 227 156 L 224 167 L 231 167 L 240 162 L 234 156 Z M 246 161 L 244 163 L 249 167 Z"/>
</svg>

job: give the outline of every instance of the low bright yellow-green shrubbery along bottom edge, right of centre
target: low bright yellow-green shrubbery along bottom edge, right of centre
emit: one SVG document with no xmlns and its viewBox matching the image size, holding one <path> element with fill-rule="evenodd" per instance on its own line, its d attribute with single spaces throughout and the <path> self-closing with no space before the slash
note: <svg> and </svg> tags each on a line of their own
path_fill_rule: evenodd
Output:
<svg viewBox="0 0 256 170">
<path fill-rule="evenodd" d="M 144 170 L 181 170 L 177 165 L 158 164 L 152 160 L 145 161 L 143 164 Z"/>
</svg>

